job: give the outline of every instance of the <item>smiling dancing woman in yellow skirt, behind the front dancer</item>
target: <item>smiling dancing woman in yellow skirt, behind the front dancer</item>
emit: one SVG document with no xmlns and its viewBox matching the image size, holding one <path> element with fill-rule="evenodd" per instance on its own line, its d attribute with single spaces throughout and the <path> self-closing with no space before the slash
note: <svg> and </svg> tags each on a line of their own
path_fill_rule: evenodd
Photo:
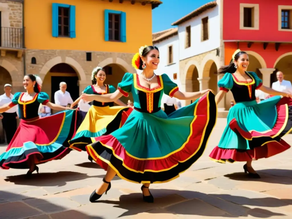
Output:
<svg viewBox="0 0 292 219">
<path fill-rule="evenodd" d="M 104 84 L 105 79 L 105 70 L 102 67 L 96 67 L 91 74 L 93 85 L 87 86 L 83 93 L 94 95 L 114 93 L 116 88 L 112 85 Z M 81 100 L 81 96 L 77 100 Z M 74 107 L 78 101 L 75 101 L 71 107 Z M 114 102 L 122 107 L 114 106 Z M 128 109 L 131 108 L 127 107 L 126 104 L 118 99 L 111 102 L 94 100 L 93 105 L 79 126 L 76 135 L 69 141 L 70 148 L 78 151 L 86 151 L 85 146 L 94 142 L 94 137 L 111 133 L 118 129 L 126 121 L 128 114 L 131 112 Z M 88 159 L 92 161 L 90 156 L 88 156 Z"/>
</svg>

